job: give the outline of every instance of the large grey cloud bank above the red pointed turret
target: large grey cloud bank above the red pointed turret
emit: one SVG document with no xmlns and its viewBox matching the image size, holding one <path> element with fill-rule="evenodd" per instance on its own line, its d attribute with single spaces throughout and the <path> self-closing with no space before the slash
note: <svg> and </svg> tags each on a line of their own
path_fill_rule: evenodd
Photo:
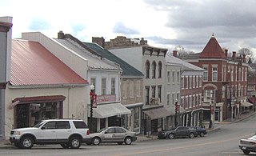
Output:
<svg viewBox="0 0 256 156">
<path fill-rule="evenodd" d="M 223 47 L 238 50 L 242 46 L 255 48 L 256 1 L 234 0 L 144 0 L 154 10 L 168 14 L 166 27 L 175 30 L 178 39 L 170 43 L 198 50 L 212 33 Z M 156 42 L 158 40 L 155 38 Z M 168 44 L 168 42 L 162 42 Z M 195 43 L 195 44 L 194 44 Z M 241 46 L 241 45 L 240 45 Z M 202 50 L 202 49 L 201 49 Z"/>
</svg>

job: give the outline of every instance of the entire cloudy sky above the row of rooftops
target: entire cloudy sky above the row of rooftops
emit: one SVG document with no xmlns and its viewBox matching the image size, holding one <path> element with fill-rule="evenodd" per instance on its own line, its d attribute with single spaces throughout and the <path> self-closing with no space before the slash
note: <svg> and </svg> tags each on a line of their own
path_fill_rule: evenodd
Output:
<svg viewBox="0 0 256 156">
<path fill-rule="evenodd" d="M 214 33 L 231 52 L 256 51 L 255 6 L 255 0 L 1 0 L 0 16 L 13 17 L 13 38 L 30 31 L 57 38 L 62 30 L 84 42 L 123 35 L 200 52 Z"/>
</svg>

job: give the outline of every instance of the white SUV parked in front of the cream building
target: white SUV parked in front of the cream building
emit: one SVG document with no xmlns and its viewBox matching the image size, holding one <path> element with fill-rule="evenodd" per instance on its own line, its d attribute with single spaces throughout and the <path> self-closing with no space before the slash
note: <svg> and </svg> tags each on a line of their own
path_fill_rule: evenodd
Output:
<svg viewBox="0 0 256 156">
<path fill-rule="evenodd" d="M 60 144 L 63 148 L 78 149 L 90 142 L 90 130 L 80 119 L 50 119 L 34 127 L 11 130 L 10 142 L 18 148 L 30 149 L 34 144 Z"/>
</svg>

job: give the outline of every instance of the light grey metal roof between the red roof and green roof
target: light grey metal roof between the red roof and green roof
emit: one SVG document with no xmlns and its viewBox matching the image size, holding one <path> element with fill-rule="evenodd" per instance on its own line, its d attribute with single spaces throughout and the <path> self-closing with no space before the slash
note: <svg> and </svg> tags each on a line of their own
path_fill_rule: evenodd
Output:
<svg viewBox="0 0 256 156">
<path fill-rule="evenodd" d="M 88 50 L 79 46 L 76 42 L 69 39 L 55 39 L 62 46 L 65 46 L 69 50 L 73 50 L 75 53 L 81 55 L 82 57 L 88 60 L 88 66 L 90 69 L 99 69 L 99 70 L 122 70 L 120 66 L 107 63 L 100 59 L 98 56 L 93 56 Z"/>
</svg>

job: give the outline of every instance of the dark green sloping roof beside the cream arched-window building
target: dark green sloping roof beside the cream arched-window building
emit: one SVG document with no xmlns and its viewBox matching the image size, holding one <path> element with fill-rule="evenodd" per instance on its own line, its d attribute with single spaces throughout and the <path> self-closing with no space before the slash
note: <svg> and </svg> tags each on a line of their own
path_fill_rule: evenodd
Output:
<svg viewBox="0 0 256 156">
<path fill-rule="evenodd" d="M 110 61 L 118 63 L 122 68 L 123 76 L 138 76 L 143 77 L 142 72 L 130 66 L 127 62 L 123 61 L 121 58 L 118 58 L 116 55 L 112 54 L 109 50 L 103 49 L 102 46 L 98 46 L 96 43 L 84 42 L 86 46 L 89 46 L 92 50 L 95 50 L 98 54 L 101 54 L 103 58 L 109 59 Z"/>
</svg>

